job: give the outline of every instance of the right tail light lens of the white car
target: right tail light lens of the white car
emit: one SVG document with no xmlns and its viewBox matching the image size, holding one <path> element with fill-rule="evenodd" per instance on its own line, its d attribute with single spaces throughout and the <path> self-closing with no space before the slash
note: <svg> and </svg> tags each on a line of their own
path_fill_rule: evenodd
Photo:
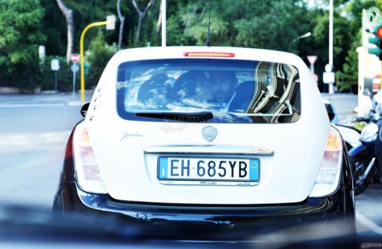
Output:
<svg viewBox="0 0 382 249">
<path fill-rule="evenodd" d="M 342 165 L 342 140 L 333 127 L 326 143 L 324 158 L 310 197 L 323 197 L 334 193 L 339 184 Z"/>
</svg>

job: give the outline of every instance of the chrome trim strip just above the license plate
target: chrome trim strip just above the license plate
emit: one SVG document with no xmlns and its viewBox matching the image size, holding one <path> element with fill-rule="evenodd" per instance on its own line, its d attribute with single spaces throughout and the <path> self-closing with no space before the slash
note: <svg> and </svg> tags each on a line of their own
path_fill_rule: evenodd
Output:
<svg viewBox="0 0 382 249">
<path fill-rule="evenodd" d="M 150 154 L 224 154 L 224 155 L 260 155 L 274 156 L 274 151 L 262 147 L 241 145 L 157 145 L 144 148 Z"/>
</svg>

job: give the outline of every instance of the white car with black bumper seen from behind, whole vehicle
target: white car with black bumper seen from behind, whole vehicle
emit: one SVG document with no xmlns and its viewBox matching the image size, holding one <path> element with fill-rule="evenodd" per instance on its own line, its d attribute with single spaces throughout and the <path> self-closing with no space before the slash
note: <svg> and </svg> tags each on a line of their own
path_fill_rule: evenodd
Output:
<svg viewBox="0 0 382 249">
<path fill-rule="evenodd" d="M 296 55 L 121 50 L 83 111 L 54 209 L 115 214 L 188 239 L 331 219 L 355 229 L 344 142 Z"/>
</svg>

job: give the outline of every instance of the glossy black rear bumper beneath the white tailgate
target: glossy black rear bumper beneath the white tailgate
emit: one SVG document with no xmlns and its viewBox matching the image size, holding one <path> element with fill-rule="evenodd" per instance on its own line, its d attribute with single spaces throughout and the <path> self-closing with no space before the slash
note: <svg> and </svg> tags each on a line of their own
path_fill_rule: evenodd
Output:
<svg viewBox="0 0 382 249">
<path fill-rule="evenodd" d="M 190 206 L 120 202 L 109 195 L 82 191 L 75 181 L 59 186 L 54 209 L 117 217 L 118 222 L 140 224 L 150 238 L 186 240 L 248 240 L 259 234 L 296 227 L 298 234 L 315 222 L 334 221 L 340 237 L 355 233 L 352 193 L 340 185 L 325 198 L 308 198 L 300 203 L 252 206 Z M 338 224 L 340 222 L 340 225 Z M 330 229 L 325 227 L 324 229 Z M 317 234 L 315 230 L 315 234 Z M 307 234 L 307 236 L 311 236 Z M 353 237 L 354 238 L 354 237 Z M 338 237 L 336 237 L 338 239 Z"/>
</svg>

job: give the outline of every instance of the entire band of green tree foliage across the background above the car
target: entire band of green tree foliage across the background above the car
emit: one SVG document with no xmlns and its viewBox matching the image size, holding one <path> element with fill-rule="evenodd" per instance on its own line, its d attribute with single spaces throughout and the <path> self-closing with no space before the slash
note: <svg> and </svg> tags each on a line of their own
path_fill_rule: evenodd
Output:
<svg viewBox="0 0 382 249">
<path fill-rule="evenodd" d="M 149 0 L 137 0 L 141 10 Z M 157 32 L 160 0 L 147 12 L 142 23 L 138 46 L 161 45 Z M 90 23 L 116 15 L 116 1 L 64 0 L 73 11 L 74 52 L 79 52 L 80 35 Z M 236 46 L 275 49 L 291 52 L 305 60 L 318 55 L 316 74 L 321 82 L 328 63 L 329 11 L 328 1 L 305 0 L 219 0 L 212 2 L 210 42 L 212 46 Z M 382 8 L 382 0 L 339 0 L 334 10 L 334 67 L 339 76 L 340 90 L 349 91 L 357 83 L 357 53 L 360 45 L 362 9 Z M 125 16 L 122 46 L 133 47 L 138 15 L 131 0 L 121 1 Z M 167 44 L 204 45 L 207 35 L 209 1 L 167 0 Z M 72 72 L 66 54 L 66 21 L 52 0 L 0 0 L 0 86 L 53 89 L 54 74 L 50 59 L 57 57 L 61 69 L 57 72 L 58 88 L 70 91 Z M 108 60 L 117 52 L 119 22 L 116 30 L 91 28 L 85 36 L 86 61 L 91 64 L 86 76 L 86 88 L 97 84 Z M 313 35 L 297 39 L 312 32 Z M 45 63 L 39 64 L 38 45 L 46 46 Z M 79 81 L 78 73 L 78 81 Z M 79 86 L 79 84 L 77 84 Z"/>
</svg>

